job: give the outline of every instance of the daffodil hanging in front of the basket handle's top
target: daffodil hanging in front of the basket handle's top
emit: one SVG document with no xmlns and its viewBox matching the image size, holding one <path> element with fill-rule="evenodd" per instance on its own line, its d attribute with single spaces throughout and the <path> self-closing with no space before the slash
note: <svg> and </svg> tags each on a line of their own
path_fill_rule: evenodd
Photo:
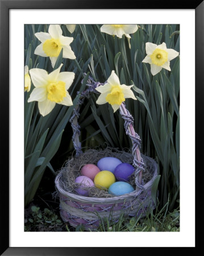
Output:
<svg viewBox="0 0 204 256">
<path fill-rule="evenodd" d="M 133 85 L 120 85 L 118 76 L 115 74 L 115 71 L 112 71 L 107 83 L 96 88 L 96 90 L 101 93 L 98 97 L 97 104 L 101 105 L 109 102 L 114 112 L 116 112 L 126 98 L 133 98 L 136 100 L 134 93 L 130 89 L 132 86 Z"/>
</svg>

